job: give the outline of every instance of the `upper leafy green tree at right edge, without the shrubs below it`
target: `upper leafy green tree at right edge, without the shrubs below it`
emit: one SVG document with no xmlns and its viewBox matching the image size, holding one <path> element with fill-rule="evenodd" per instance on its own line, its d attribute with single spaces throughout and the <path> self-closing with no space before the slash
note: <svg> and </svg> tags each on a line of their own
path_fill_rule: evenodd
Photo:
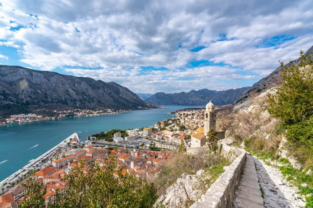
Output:
<svg viewBox="0 0 313 208">
<path fill-rule="evenodd" d="M 304 122 L 313 114 L 313 63 L 303 51 L 299 60 L 290 65 L 280 62 L 283 83 L 275 95 L 269 95 L 269 113 L 286 127 Z"/>
</svg>

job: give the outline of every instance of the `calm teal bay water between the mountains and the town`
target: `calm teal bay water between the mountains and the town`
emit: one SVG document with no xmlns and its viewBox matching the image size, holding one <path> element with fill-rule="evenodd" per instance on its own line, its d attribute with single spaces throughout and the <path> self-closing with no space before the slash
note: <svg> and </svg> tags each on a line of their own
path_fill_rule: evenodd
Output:
<svg viewBox="0 0 313 208">
<path fill-rule="evenodd" d="M 109 129 L 141 128 L 172 118 L 178 109 L 203 106 L 167 106 L 168 109 L 136 110 L 83 118 L 37 121 L 0 127 L 0 181 L 53 148 L 72 133 L 81 140 Z M 37 145 L 37 146 L 36 146 Z M 7 160 L 6 162 L 3 162 Z"/>
</svg>

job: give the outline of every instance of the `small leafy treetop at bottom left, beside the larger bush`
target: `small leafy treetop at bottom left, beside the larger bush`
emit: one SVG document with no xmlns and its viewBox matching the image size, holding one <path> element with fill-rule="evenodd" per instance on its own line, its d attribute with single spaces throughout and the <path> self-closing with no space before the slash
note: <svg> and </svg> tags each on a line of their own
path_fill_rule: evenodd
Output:
<svg viewBox="0 0 313 208">
<path fill-rule="evenodd" d="M 41 183 L 36 182 L 36 178 L 32 177 L 35 174 L 35 169 L 28 177 L 28 181 L 23 183 L 22 186 L 26 188 L 26 196 L 24 201 L 18 206 L 21 208 L 45 208 L 44 195 L 46 194 L 46 188 L 41 188 Z"/>
</svg>

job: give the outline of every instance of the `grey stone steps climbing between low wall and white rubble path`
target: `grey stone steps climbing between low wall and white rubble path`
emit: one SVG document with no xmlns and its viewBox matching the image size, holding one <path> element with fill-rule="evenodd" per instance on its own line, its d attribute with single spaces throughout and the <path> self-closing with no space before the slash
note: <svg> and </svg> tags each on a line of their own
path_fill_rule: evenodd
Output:
<svg viewBox="0 0 313 208">
<path fill-rule="evenodd" d="M 244 171 L 241 174 L 233 204 L 235 208 L 264 208 L 254 160 L 249 154 L 247 154 Z"/>
</svg>

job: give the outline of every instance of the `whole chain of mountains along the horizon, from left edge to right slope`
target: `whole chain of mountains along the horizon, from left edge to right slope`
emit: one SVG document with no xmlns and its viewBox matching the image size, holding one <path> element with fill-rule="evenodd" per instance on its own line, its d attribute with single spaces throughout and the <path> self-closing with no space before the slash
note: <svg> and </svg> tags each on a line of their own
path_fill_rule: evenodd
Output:
<svg viewBox="0 0 313 208">
<path fill-rule="evenodd" d="M 306 51 L 313 54 L 313 46 Z M 293 63 L 299 61 L 294 60 Z M 288 63 L 287 65 L 290 65 Z M 235 109 L 249 106 L 254 95 L 281 83 L 278 67 L 252 87 L 223 91 L 199 89 L 181 93 L 138 93 L 115 82 L 88 77 L 62 75 L 21 66 L 0 65 L 0 119 L 12 114 L 60 109 L 142 109 L 155 105 L 205 105 L 210 97 L 217 105 L 235 104 Z"/>
</svg>

